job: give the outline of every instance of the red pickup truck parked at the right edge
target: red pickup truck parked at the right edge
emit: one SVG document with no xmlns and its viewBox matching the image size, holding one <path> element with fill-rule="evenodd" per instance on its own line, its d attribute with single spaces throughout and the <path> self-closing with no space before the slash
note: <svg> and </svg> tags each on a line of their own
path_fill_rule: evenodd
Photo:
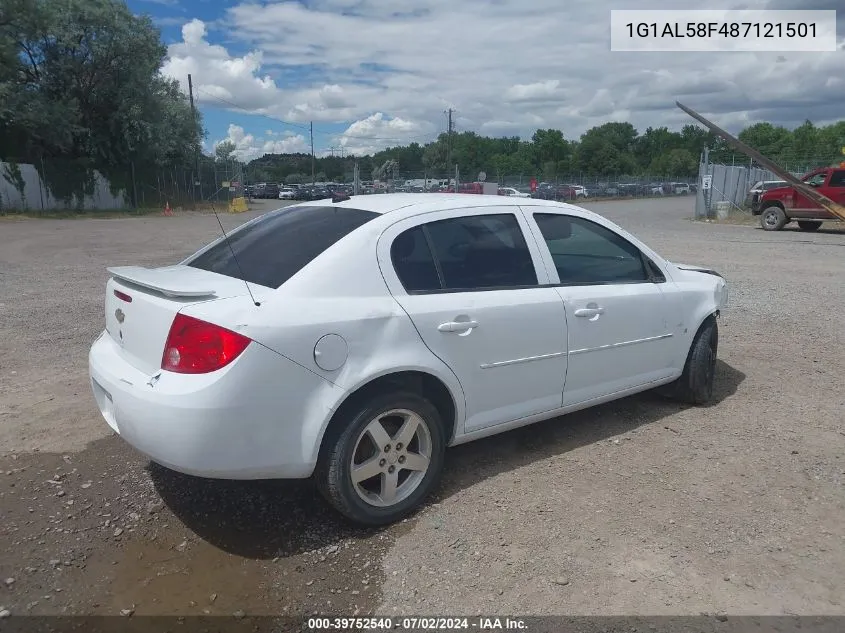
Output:
<svg viewBox="0 0 845 633">
<path fill-rule="evenodd" d="M 845 163 L 839 167 L 823 167 L 805 174 L 801 180 L 834 202 L 845 205 Z M 790 186 L 769 189 L 760 196 L 755 215 L 767 231 L 780 231 L 793 220 L 802 231 L 815 231 L 822 222 L 839 219 L 827 209 Z"/>
</svg>

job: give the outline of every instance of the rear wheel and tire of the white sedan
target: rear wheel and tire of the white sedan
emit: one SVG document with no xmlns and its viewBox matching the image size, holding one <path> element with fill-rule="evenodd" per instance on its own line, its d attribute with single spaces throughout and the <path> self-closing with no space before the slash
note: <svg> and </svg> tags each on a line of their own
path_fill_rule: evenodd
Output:
<svg viewBox="0 0 845 633">
<path fill-rule="evenodd" d="M 377 395 L 350 411 L 341 424 L 329 427 L 315 471 L 317 487 L 335 510 L 355 523 L 394 523 L 415 510 L 440 479 L 447 441 L 440 414 L 412 392 Z M 416 430 L 402 446 L 398 435 L 410 422 L 417 425 Z M 374 435 L 385 445 L 376 446 Z M 415 466 L 424 464 L 425 470 L 402 467 L 412 461 Z M 353 475 L 353 468 L 362 464 L 369 466 L 358 477 L 374 473 L 367 479 Z M 398 486 L 393 489 L 391 484 Z M 406 484 L 408 488 L 402 490 Z M 391 489 L 395 501 L 383 498 Z"/>
</svg>

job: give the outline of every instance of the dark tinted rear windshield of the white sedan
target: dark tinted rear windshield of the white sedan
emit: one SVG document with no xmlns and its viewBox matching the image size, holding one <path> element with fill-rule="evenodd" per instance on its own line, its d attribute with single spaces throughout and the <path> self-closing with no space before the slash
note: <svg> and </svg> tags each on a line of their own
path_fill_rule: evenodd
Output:
<svg viewBox="0 0 845 633">
<path fill-rule="evenodd" d="M 286 207 L 235 231 L 188 266 L 278 288 L 377 213 L 342 207 Z M 237 261 L 232 256 L 234 251 Z"/>
</svg>

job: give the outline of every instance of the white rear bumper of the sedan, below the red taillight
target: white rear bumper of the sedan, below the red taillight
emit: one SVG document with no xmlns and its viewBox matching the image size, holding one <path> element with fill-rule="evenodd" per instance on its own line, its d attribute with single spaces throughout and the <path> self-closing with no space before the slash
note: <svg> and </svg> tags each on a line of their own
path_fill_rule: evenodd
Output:
<svg viewBox="0 0 845 633">
<path fill-rule="evenodd" d="M 94 343 L 88 362 L 103 418 L 162 466 L 219 479 L 313 472 L 319 433 L 308 429 L 321 429 L 328 415 L 330 407 L 319 402 L 328 383 L 257 343 L 204 375 L 147 375 L 122 358 L 108 335 Z"/>
</svg>

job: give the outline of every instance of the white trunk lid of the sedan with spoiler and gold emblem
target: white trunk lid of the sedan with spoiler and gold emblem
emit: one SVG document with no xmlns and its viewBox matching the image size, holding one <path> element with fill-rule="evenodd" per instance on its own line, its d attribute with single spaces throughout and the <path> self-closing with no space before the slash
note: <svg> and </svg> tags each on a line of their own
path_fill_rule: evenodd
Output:
<svg viewBox="0 0 845 633">
<path fill-rule="evenodd" d="M 120 266 L 108 272 L 106 331 L 120 356 L 148 374 L 161 369 L 167 335 L 180 310 L 241 295 L 249 300 L 246 282 L 190 266 Z M 249 288 L 256 297 L 268 290 L 255 284 Z"/>
</svg>

